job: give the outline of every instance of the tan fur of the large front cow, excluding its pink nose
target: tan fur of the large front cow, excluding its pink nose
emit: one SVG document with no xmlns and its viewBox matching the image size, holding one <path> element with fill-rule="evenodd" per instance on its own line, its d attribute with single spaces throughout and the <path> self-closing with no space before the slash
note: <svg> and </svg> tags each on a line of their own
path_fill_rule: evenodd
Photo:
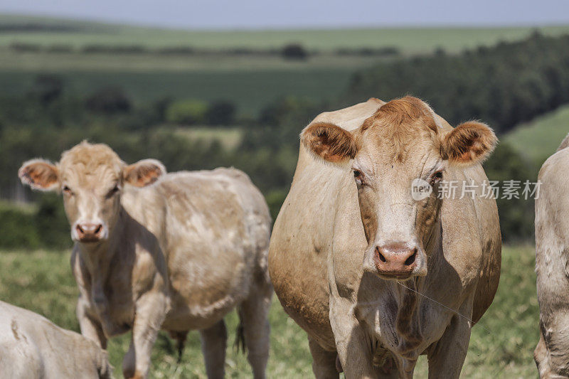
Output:
<svg viewBox="0 0 569 379">
<path fill-rule="evenodd" d="M 326 134 L 327 124 L 345 133 Z M 314 130 L 319 134 L 307 135 Z M 355 154 L 350 147 L 312 149 L 314 139 L 350 136 Z M 487 181 L 479 162 L 494 147 L 494 134 L 479 123 L 453 129 L 406 97 L 320 114 L 302 142 L 273 229 L 269 270 L 285 311 L 308 333 L 314 374 L 337 378 L 337 352 L 346 378 L 408 378 L 427 354 L 430 378 L 458 378 L 470 320 L 484 314 L 499 282 L 496 202 L 433 194 L 414 203 L 410 183 L 435 169 L 449 181 Z M 457 154 L 461 149 L 467 154 Z M 365 188 L 356 188 L 354 168 L 368 176 Z M 410 279 L 374 272 L 373 247 L 388 237 L 423 251 L 425 265 Z"/>
</svg>

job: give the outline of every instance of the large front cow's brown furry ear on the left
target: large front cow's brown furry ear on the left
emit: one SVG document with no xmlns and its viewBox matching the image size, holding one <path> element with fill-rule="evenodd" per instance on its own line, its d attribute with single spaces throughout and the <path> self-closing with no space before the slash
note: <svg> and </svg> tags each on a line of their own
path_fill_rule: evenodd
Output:
<svg viewBox="0 0 569 379">
<path fill-rule="evenodd" d="M 358 148 L 350 132 L 328 122 L 310 124 L 300 134 L 309 151 L 329 162 L 353 159 Z"/>
</svg>

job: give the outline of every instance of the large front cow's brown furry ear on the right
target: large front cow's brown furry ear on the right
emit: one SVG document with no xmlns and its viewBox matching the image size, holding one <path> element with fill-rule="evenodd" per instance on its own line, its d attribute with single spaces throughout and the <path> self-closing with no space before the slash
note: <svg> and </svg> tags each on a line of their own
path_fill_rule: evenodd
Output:
<svg viewBox="0 0 569 379">
<path fill-rule="evenodd" d="M 442 158 L 450 164 L 482 163 L 494 150 L 498 139 L 492 129 L 482 122 L 464 122 L 445 136 Z"/>
</svg>

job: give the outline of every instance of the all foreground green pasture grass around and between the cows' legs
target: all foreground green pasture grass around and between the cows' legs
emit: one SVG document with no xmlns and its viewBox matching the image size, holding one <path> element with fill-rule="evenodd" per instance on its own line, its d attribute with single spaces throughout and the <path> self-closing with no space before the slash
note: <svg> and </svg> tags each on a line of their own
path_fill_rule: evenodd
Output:
<svg viewBox="0 0 569 379">
<path fill-rule="evenodd" d="M 78 331 L 75 319 L 77 289 L 66 252 L 0 252 L 0 299 L 36 311 L 56 324 Z M 538 341 L 538 304 L 533 247 L 504 247 L 502 276 L 494 304 L 472 330 L 463 378 L 534 378 L 533 348 Z M 235 312 L 226 317 L 229 341 L 228 378 L 250 378 L 243 353 L 233 348 Z M 270 312 L 271 351 L 269 378 L 312 376 L 311 358 L 304 331 L 287 317 L 275 298 Z M 113 338 L 108 348 L 121 378 L 122 356 L 129 336 Z M 152 355 L 151 378 L 205 378 L 198 333 L 188 336 L 182 363 L 176 364 L 176 348 L 161 333 Z M 415 378 L 426 378 L 426 359 L 420 358 Z"/>
</svg>

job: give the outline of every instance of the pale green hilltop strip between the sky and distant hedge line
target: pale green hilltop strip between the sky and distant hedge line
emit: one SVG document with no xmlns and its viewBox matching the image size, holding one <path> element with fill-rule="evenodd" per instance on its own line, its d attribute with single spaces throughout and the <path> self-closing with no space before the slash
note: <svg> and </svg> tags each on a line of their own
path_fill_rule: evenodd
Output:
<svg viewBox="0 0 569 379">
<path fill-rule="evenodd" d="M 137 26 L 108 25 L 58 18 L 1 15 L 1 24 L 41 23 L 70 26 L 70 32 L 4 32 L 0 46 L 13 42 L 38 43 L 44 46 L 69 44 L 79 48 L 89 44 L 193 46 L 196 48 L 280 48 L 299 42 L 310 49 L 367 48 L 396 46 L 404 53 L 425 53 L 442 47 L 456 52 L 498 41 L 513 41 L 527 36 L 533 28 L 354 28 L 332 30 L 256 30 L 256 31 L 188 31 Z M 546 26 L 543 33 L 568 33 L 569 26 Z"/>
</svg>

